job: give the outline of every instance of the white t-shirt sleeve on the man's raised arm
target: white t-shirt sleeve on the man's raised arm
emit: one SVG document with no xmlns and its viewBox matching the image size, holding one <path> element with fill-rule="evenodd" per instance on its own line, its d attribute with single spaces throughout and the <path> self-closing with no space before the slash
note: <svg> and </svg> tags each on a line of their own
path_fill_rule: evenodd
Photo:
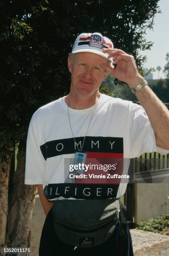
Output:
<svg viewBox="0 0 169 256">
<path fill-rule="evenodd" d="M 153 128 L 142 106 L 132 103 L 130 105 L 129 115 L 129 158 L 151 152 L 159 152 L 160 154 L 169 153 L 168 150 L 156 146 Z"/>
</svg>

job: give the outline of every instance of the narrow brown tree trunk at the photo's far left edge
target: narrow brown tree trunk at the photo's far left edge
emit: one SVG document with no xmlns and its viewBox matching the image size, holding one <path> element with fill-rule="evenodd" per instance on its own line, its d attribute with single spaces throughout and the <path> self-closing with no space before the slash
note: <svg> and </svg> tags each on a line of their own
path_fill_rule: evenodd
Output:
<svg viewBox="0 0 169 256">
<path fill-rule="evenodd" d="M 10 161 L 11 156 L 7 157 L 7 162 L 0 159 L 0 247 L 6 244 Z"/>
</svg>

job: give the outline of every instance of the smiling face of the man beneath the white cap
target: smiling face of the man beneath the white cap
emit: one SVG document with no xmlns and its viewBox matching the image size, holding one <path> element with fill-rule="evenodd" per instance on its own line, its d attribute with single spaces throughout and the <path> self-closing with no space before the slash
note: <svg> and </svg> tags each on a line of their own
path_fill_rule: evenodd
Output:
<svg viewBox="0 0 169 256">
<path fill-rule="evenodd" d="M 68 69 L 71 72 L 71 90 L 79 96 L 91 97 L 98 92 L 103 79 L 108 73 L 101 64 L 108 60 L 93 53 L 77 53 L 73 55 L 73 63 L 68 58 Z"/>
</svg>

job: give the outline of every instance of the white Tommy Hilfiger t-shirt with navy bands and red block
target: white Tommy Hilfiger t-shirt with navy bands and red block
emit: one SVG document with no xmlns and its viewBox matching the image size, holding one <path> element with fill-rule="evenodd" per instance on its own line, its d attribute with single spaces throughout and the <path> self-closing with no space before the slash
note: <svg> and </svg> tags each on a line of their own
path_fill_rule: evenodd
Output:
<svg viewBox="0 0 169 256">
<path fill-rule="evenodd" d="M 69 108 L 71 127 L 79 148 L 87 158 L 138 157 L 146 152 L 168 151 L 156 147 L 154 131 L 144 108 L 127 100 L 101 94 L 95 105 L 83 110 Z M 119 198 L 125 193 L 126 183 L 76 184 L 68 183 L 65 159 L 74 159 L 78 151 L 68 119 L 64 97 L 39 108 L 30 121 L 25 184 L 43 184 L 49 200 Z M 127 174 L 126 161 L 123 174 Z M 111 193 L 111 191 L 113 191 Z"/>
</svg>

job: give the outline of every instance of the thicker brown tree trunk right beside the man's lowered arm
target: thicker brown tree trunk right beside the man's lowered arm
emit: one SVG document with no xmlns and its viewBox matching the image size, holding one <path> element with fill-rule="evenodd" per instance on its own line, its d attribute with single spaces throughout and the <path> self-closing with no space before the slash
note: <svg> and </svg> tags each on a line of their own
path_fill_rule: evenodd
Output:
<svg viewBox="0 0 169 256">
<path fill-rule="evenodd" d="M 30 248 L 30 220 L 35 205 L 37 187 L 25 185 L 25 147 L 19 146 L 17 170 L 13 175 L 9 199 L 7 243 L 11 247 Z M 10 256 L 12 254 L 9 254 Z M 17 254 L 13 254 L 17 255 Z M 25 255 L 29 255 L 25 254 Z"/>
</svg>

